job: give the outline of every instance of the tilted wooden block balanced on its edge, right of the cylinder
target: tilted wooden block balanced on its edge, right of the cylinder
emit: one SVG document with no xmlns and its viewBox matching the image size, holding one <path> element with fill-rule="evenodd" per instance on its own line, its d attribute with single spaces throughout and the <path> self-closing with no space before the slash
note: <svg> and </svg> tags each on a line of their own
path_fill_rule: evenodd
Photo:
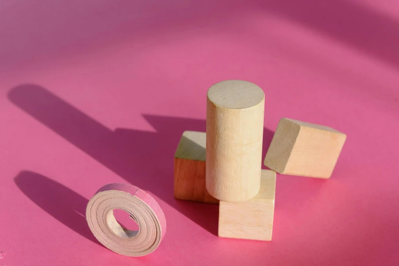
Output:
<svg viewBox="0 0 399 266">
<path fill-rule="evenodd" d="M 345 140 L 331 127 L 282 118 L 264 164 L 281 174 L 330 178 Z"/>
</svg>

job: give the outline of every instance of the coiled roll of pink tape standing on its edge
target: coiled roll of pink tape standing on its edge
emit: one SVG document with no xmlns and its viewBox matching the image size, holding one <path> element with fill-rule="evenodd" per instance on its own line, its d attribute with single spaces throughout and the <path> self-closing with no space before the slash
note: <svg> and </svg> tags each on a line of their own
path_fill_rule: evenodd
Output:
<svg viewBox="0 0 399 266">
<path fill-rule="evenodd" d="M 138 231 L 122 227 L 113 215 L 114 209 L 130 214 Z M 86 220 L 101 244 L 116 253 L 139 257 L 153 252 L 166 232 L 166 220 L 158 202 L 130 184 L 107 184 L 90 199 Z"/>
</svg>

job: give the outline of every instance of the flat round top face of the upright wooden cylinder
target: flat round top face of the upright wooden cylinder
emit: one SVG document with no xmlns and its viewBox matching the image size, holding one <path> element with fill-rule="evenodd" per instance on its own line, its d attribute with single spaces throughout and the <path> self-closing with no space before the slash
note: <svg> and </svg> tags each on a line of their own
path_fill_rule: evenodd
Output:
<svg viewBox="0 0 399 266">
<path fill-rule="evenodd" d="M 265 98 L 256 84 L 246 81 L 222 81 L 209 88 L 208 99 L 220 107 L 228 109 L 251 108 Z"/>
</svg>

